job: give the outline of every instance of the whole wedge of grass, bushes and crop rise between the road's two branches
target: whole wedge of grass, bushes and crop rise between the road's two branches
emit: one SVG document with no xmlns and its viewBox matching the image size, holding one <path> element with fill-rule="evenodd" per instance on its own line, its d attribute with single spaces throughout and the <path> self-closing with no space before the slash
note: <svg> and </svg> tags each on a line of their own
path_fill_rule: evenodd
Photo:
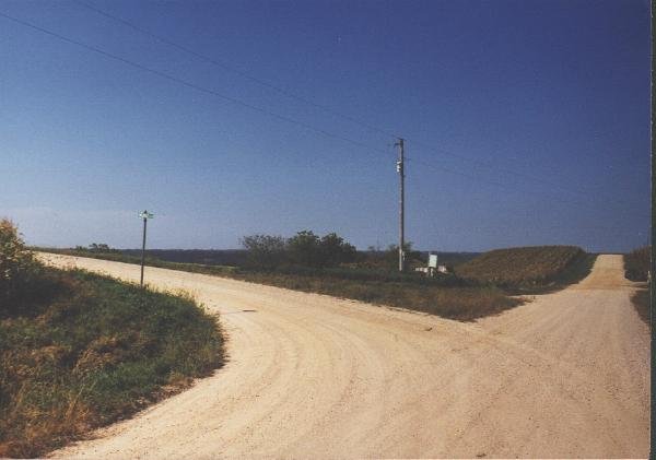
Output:
<svg viewBox="0 0 656 460">
<path fill-rule="evenodd" d="M 403 273 L 397 271 L 398 246 L 390 245 L 384 250 L 370 247 L 366 251 L 356 251 L 352 245 L 335 233 L 319 236 L 312 231 L 303 231 L 290 238 L 276 235 L 250 235 L 245 236 L 242 244 L 244 252 L 239 256 L 242 263 L 238 267 L 178 263 L 152 257 L 147 257 L 147 264 L 402 307 L 444 318 L 471 321 L 513 308 L 524 302 L 513 294 L 534 294 L 574 282 L 589 272 L 594 261 L 594 256 L 586 255 L 579 248 L 571 247 L 544 247 L 537 252 L 531 248 L 528 251 L 527 248 L 517 248 L 492 251 L 493 257 L 490 257 L 490 252 L 482 256 L 462 252 L 438 256 L 440 263 L 446 264 L 448 270 L 446 273 L 427 278 L 413 270 L 415 267 L 426 266 L 427 253 L 413 250 L 411 243 L 405 247 L 408 270 Z M 127 256 L 112 249 L 107 251 L 105 246 L 92 245 L 89 248 L 74 250 L 46 250 L 140 263 L 139 257 Z M 202 251 L 198 252 L 202 253 Z M 209 251 L 206 251 L 204 256 L 211 257 L 211 253 L 207 252 Z M 236 250 L 231 252 L 234 255 Z M 499 255 L 503 256 L 501 260 L 497 260 Z M 503 266 L 506 263 L 504 258 L 509 256 L 513 256 L 511 263 L 516 263 L 516 259 L 524 260 L 524 266 L 519 267 L 519 275 L 516 278 L 507 276 L 497 280 L 466 278 L 459 272 L 461 267 L 469 263 L 480 269 L 481 258 L 489 267 Z M 538 258 L 539 263 L 531 261 L 531 257 Z M 539 258 L 542 257 L 547 257 L 548 260 L 540 261 Z M 534 267 L 536 264 L 537 268 Z M 526 280 L 530 280 L 530 290 L 527 290 L 524 284 Z"/>
</svg>

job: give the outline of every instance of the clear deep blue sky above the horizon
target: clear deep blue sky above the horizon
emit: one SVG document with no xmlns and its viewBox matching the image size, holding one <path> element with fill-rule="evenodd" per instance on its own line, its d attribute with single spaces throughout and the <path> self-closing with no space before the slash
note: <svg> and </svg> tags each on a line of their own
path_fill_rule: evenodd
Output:
<svg viewBox="0 0 656 460">
<path fill-rule="evenodd" d="M 421 249 L 644 245 L 649 3 L 89 3 L 407 139 Z M 0 16 L 0 215 L 27 243 L 235 248 L 253 233 L 397 240 L 395 139 L 71 1 L 11 15 L 313 131 Z"/>
</svg>

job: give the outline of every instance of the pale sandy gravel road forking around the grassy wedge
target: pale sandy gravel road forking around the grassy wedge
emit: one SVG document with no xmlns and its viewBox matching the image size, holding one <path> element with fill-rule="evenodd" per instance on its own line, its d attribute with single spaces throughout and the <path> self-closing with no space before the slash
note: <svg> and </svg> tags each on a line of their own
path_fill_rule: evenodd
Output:
<svg viewBox="0 0 656 460">
<path fill-rule="evenodd" d="M 137 266 L 44 258 L 139 276 Z M 147 279 L 222 314 L 230 363 L 56 456 L 648 455 L 648 331 L 621 256 L 476 323 L 154 268 Z"/>
</svg>

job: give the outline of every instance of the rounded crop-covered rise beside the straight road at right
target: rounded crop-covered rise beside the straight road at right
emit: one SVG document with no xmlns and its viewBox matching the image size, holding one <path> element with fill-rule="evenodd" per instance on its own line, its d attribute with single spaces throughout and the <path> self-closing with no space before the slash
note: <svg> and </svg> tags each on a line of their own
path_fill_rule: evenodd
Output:
<svg viewBox="0 0 656 460">
<path fill-rule="evenodd" d="M 496 249 L 459 266 L 456 273 L 511 292 L 541 293 L 582 280 L 595 258 L 575 246 Z"/>
</svg>

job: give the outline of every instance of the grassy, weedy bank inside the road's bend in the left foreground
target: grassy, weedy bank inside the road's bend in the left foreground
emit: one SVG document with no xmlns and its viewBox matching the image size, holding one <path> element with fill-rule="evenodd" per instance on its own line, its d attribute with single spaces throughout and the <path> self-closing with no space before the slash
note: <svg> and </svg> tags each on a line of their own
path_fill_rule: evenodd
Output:
<svg viewBox="0 0 656 460">
<path fill-rule="evenodd" d="M 0 221 L 0 457 L 39 457 L 223 363 L 184 295 L 37 263 Z"/>
</svg>

